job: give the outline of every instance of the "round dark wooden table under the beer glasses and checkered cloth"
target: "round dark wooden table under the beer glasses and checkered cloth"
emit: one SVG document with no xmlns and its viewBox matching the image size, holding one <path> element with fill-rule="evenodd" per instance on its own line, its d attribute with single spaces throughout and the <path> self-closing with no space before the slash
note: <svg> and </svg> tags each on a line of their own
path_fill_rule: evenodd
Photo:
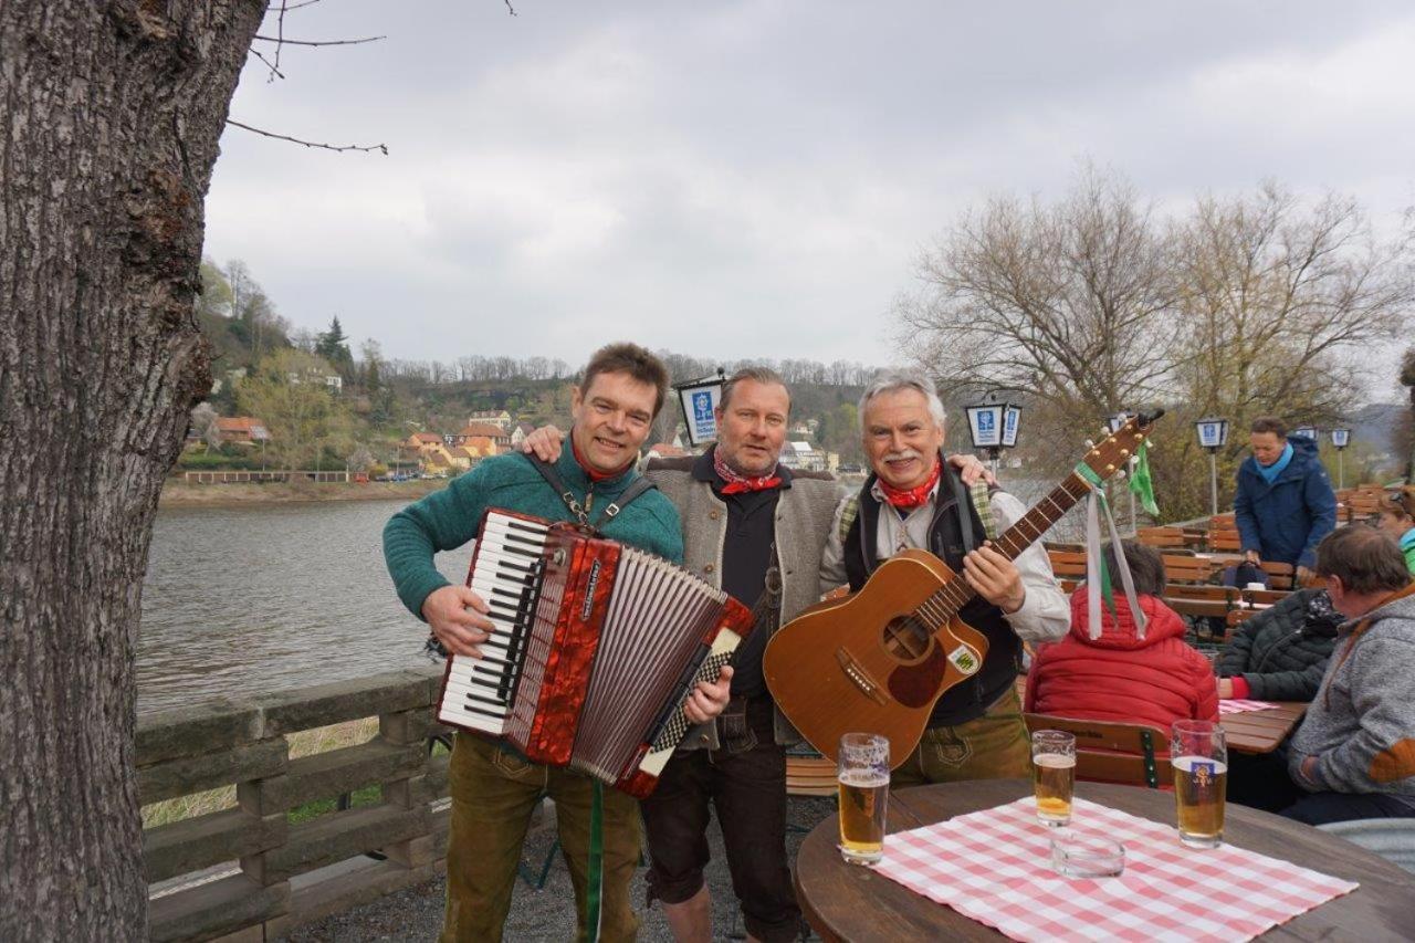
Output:
<svg viewBox="0 0 1415 943">
<path fill-rule="evenodd" d="M 1174 796 L 1133 786 L 1077 783 L 1082 799 L 1173 824 Z M 907 831 L 1032 794 L 1032 782 L 976 780 L 890 794 L 887 830 Z M 1404 940 L 1415 930 L 1415 875 L 1310 825 L 1228 806 L 1224 840 L 1337 878 L 1360 882 L 1264 933 L 1264 940 Z M 824 940 L 1000 940 L 1000 933 L 908 891 L 869 868 L 848 865 L 836 848 L 835 817 L 807 835 L 797 854 L 797 901 Z M 1174 841 L 1179 841 L 1177 835 Z M 887 848 L 887 844 L 886 844 Z"/>
</svg>

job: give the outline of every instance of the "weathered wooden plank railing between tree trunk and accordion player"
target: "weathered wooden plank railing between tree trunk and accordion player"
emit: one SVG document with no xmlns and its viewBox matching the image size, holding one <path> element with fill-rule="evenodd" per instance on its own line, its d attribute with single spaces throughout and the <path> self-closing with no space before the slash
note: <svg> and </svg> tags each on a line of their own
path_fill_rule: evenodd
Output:
<svg viewBox="0 0 1415 943">
<path fill-rule="evenodd" d="M 427 746 L 437 687 L 429 667 L 140 716 L 144 806 L 236 787 L 233 808 L 143 831 L 151 937 L 270 940 L 434 876 L 449 828 L 447 756 Z M 372 741 L 290 758 L 287 735 L 371 716 Z M 376 804 L 290 824 L 371 784 Z"/>
</svg>

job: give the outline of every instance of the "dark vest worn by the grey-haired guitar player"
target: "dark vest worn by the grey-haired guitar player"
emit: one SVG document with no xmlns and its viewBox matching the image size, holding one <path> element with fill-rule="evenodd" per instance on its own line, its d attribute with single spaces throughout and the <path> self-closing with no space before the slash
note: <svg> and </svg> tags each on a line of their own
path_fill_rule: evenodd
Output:
<svg viewBox="0 0 1415 943">
<path fill-rule="evenodd" d="M 857 592 L 880 564 L 876 534 L 882 508 L 870 491 L 873 487 L 872 474 L 860 491 L 859 513 L 845 535 L 845 572 L 850 579 L 852 592 Z M 935 500 L 938 510 L 928 528 L 928 551 L 948 564 L 955 573 L 962 573 L 964 556 L 968 551 L 982 547 L 986 531 L 966 486 L 947 462 Z M 978 674 L 958 682 L 938 698 L 934 712 L 928 716 L 930 728 L 954 726 L 982 716 L 1009 687 L 1017 682 L 1017 674 L 1022 671 L 1022 640 L 1007 624 L 1000 609 L 981 596 L 974 596 L 958 616 L 988 637 L 988 656 Z"/>
</svg>

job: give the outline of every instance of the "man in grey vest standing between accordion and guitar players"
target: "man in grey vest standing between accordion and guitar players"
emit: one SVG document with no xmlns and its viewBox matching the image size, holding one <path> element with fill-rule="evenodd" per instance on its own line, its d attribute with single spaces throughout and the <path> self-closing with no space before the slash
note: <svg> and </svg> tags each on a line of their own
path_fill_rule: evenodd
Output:
<svg viewBox="0 0 1415 943">
<path fill-rule="evenodd" d="M 767 691 L 761 656 L 780 624 L 819 599 L 821 551 L 841 490 L 828 474 L 778 464 L 790 412 L 791 394 L 777 372 L 740 370 L 723 385 L 717 443 L 698 457 L 655 459 L 645 471 L 682 517 L 683 566 L 758 612 L 733 658 L 724 714 L 689 731 L 641 803 L 649 895 L 664 903 L 679 943 L 712 939 L 703 882 L 710 804 L 749 939 L 799 935 L 785 848 L 785 748 L 799 735 Z M 558 439 L 542 429 L 526 447 L 549 459 Z M 982 476 L 972 456 L 949 463 L 969 481 Z"/>
</svg>

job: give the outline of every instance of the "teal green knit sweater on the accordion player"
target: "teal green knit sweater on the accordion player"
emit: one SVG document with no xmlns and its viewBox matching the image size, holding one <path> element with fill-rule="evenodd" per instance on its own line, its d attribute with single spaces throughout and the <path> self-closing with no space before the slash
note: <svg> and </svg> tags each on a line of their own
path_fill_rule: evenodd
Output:
<svg viewBox="0 0 1415 943">
<path fill-rule="evenodd" d="M 574 460 L 569 443 L 560 452 L 556 470 L 580 504 L 589 508 L 591 521 L 606 503 L 618 497 L 638 477 L 631 470 L 591 484 L 584 469 Z M 552 521 L 574 520 L 560 496 L 522 455 L 487 459 L 467 474 L 453 479 L 441 491 L 409 504 L 383 528 L 383 561 L 398 588 L 398 598 L 415 616 L 423 617 L 423 600 L 429 593 L 449 585 L 433 565 L 433 554 L 454 549 L 473 539 L 481 524 L 481 513 L 491 507 Z M 603 531 L 610 539 L 647 549 L 675 564 L 682 562 L 683 538 L 678 511 L 657 490 L 631 501 L 603 525 Z"/>
</svg>

